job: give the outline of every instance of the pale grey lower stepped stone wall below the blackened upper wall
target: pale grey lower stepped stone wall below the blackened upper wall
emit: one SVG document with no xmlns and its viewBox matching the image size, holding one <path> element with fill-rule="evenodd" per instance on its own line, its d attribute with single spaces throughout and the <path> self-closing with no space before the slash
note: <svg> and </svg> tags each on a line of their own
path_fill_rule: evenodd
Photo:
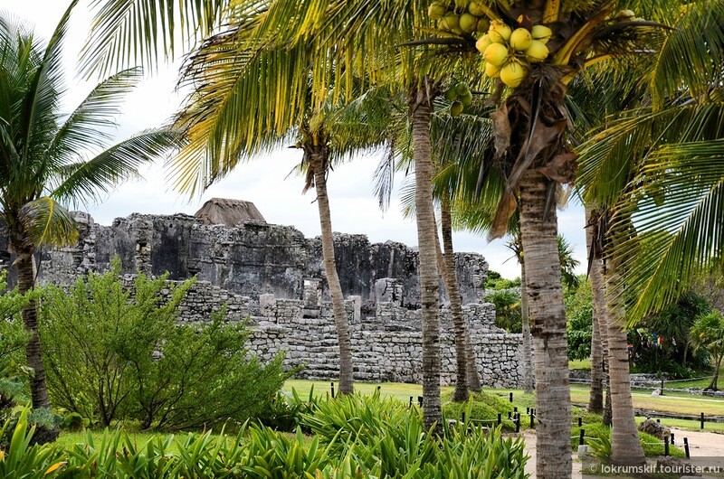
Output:
<svg viewBox="0 0 724 479">
<path fill-rule="evenodd" d="M 394 278 L 380 282 L 395 284 Z M 279 351 L 287 352 L 287 367 L 303 366 L 300 378 L 338 378 L 338 342 L 331 303 L 319 301 L 313 289 L 303 299 L 263 295 L 258 299 L 259 315 L 252 315 L 250 348 L 263 361 Z M 234 295 L 218 286 L 198 281 L 180 305 L 184 321 L 203 322 L 212 309 L 228 304 L 232 321 L 247 318 L 252 300 Z M 376 305 L 375 315 L 361 314 L 361 298 L 351 296 L 345 305 L 350 325 L 354 377 L 365 381 L 420 382 L 422 380 L 422 333 L 419 310 L 406 309 L 399 302 Z M 463 306 L 478 357 L 478 369 L 485 385 L 515 387 L 519 384 L 520 335 L 495 327 L 490 304 Z M 450 310 L 441 310 L 442 383 L 455 379 L 455 348 Z"/>
</svg>

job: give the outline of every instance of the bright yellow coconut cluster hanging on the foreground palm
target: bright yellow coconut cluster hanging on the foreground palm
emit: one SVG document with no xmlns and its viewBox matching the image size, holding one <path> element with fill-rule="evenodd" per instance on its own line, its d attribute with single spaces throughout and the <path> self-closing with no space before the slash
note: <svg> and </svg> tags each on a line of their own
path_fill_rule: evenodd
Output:
<svg viewBox="0 0 724 479">
<path fill-rule="evenodd" d="M 485 59 L 481 68 L 491 79 L 500 78 L 510 88 L 516 88 L 528 76 L 531 63 L 548 58 L 546 43 L 552 34 L 545 25 L 513 30 L 507 23 L 493 20 L 488 33 L 475 43 Z"/>
</svg>

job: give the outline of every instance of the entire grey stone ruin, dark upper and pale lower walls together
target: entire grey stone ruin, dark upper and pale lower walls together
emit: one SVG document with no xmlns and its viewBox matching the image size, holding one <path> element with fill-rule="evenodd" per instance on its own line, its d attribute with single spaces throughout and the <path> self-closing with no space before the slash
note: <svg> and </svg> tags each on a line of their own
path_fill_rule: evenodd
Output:
<svg viewBox="0 0 724 479">
<path fill-rule="evenodd" d="M 122 274 L 143 272 L 171 281 L 196 276 L 180 306 L 181 320 L 205 321 L 228 305 L 232 321 L 250 318 L 250 348 L 262 360 L 287 352 L 288 366 L 304 365 L 300 378 L 336 379 L 338 344 L 321 240 L 291 226 L 243 221 L 207 225 L 185 214 L 134 213 L 101 226 L 76 213 L 78 243 L 43 251 L 40 280 L 68 285 L 110 268 L 118 256 Z M 0 242 L 0 251 L 6 251 Z M 335 233 L 338 274 L 346 297 L 356 380 L 422 380 L 422 324 L 418 255 L 402 243 L 370 243 L 364 235 Z M 0 255 L 5 267 L 10 255 Z M 476 253 L 456 253 L 464 312 L 484 384 L 515 387 L 522 377 L 520 335 L 495 326 L 495 310 L 483 301 L 488 264 Z M 2 266 L 0 264 L 0 266 Z M 449 302 L 441 287 L 443 384 L 454 381 L 455 358 Z"/>
</svg>

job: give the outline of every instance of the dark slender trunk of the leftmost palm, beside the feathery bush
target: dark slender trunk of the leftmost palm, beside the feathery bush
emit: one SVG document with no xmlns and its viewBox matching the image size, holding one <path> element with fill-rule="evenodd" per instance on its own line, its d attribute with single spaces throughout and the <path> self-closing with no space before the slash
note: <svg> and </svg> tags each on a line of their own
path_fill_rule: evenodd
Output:
<svg viewBox="0 0 724 479">
<path fill-rule="evenodd" d="M 18 290 L 24 295 L 35 287 L 35 275 L 33 271 L 33 249 L 16 248 Z M 28 366 L 33 368 L 33 375 L 30 377 L 30 396 L 33 401 L 33 409 L 50 408 L 51 401 L 48 399 L 48 387 L 45 383 L 45 369 L 43 368 L 43 357 L 40 348 L 40 336 L 38 335 L 38 310 L 35 301 L 31 301 L 23 308 L 23 322 L 25 330 L 30 334 L 25 354 Z"/>
</svg>

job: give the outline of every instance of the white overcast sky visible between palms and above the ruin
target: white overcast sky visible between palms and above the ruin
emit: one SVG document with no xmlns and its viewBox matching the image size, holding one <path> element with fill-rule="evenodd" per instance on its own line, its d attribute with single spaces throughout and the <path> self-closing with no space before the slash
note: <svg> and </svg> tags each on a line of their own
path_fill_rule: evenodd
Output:
<svg viewBox="0 0 724 479">
<path fill-rule="evenodd" d="M 0 0 L 0 10 L 9 11 L 24 23 L 34 24 L 35 32 L 43 38 L 50 37 L 52 30 L 70 2 L 66 0 Z M 78 80 L 75 75 L 77 59 L 90 24 L 88 1 L 81 0 L 73 13 L 70 35 L 65 44 L 68 93 L 64 108 L 71 111 L 90 91 L 90 83 Z M 176 64 L 177 66 L 177 64 Z M 174 91 L 176 68 L 162 66 L 157 74 L 144 80 L 129 95 L 119 117 L 119 137 L 129 136 L 138 130 L 157 127 L 167 121 L 179 104 Z M 319 216 L 312 192 L 301 195 L 302 178 L 287 175 L 299 164 L 300 152 L 281 149 L 273 155 L 260 156 L 255 161 L 242 164 L 238 169 L 211 188 L 203 196 L 188 198 L 172 191 L 165 181 L 161 165 L 143 171 L 145 180 L 121 184 L 100 204 L 86 208 L 101 224 L 128 216 L 132 212 L 193 214 L 209 198 L 234 198 L 256 204 L 266 221 L 293 225 L 306 236 L 319 235 Z M 348 164 L 336 167 L 329 175 L 329 199 L 332 225 L 335 231 L 366 234 L 371 241 L 401 241 L 417 244 L 414 221 L 405 220 L 400 214 L 395 198 L 389 211 L 384 214 L 377 208 L 372 189 L 372 172 L 379 158 L 374 154 L 362 155 Z M 396 183 L 399 184 L 400 176 Z M 586 239 L 584 213 L 578 205 L 558 211 L 560 232 L 574 246 L 576 258 L 586 264 Z M 504 240 L 489 243 L 481 236 L 459 232 L 454 236 L 455 249 L 481 253 L 504 277 L 518 277 L 519 266 L 510 259 L 510 250 Z M 584 267 L 579 267 L 583 271 Z"/>
</svg>

